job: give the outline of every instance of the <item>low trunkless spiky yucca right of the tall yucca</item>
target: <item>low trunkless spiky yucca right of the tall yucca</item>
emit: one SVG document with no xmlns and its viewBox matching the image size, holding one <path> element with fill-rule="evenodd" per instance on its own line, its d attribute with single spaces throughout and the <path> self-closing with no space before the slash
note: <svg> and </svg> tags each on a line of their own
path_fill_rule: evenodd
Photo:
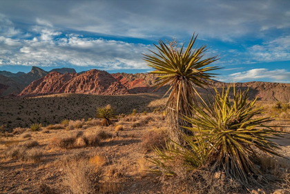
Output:
<svg viewBox="0 0 290 194">
<path fill-rule="evenodd" d="M 206 157 L 213 171 L 225 171 L 244 185 L 258 176 L 267 181 L 256 166 L 257 151 L 282 156 L 276 151 L 278 144 L 271 141 L 281 132 L 271 129 L 271 117 L 260 117 L 263 108 L 255 106 L 257 98 L 249 101 L 249 88 L 236 92 L 233 87 L 232 100 L 229 91 L 230 86 L 221 93 L 215 89 L 213 100 L 192 105 L 194 117 L 184 119 L 192 124 L 188 129 L 198 134 L 193 142 L 207 143 Z"/>
</svg>

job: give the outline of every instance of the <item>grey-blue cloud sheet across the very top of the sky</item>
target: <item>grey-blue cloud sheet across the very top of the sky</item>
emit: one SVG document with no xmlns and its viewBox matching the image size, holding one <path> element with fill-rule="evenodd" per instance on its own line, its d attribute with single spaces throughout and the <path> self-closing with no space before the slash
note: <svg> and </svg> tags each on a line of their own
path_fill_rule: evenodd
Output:
<svg viewBox="0 0 290 194">
<path fill-rule="evenodd" d="M 290 27 L 289 1 L 3 1 L 17 21 L 124 37 L 187 37 L 235 41 Z M 39 17 L 41 16 L 41 17 Z"/>
</svg>

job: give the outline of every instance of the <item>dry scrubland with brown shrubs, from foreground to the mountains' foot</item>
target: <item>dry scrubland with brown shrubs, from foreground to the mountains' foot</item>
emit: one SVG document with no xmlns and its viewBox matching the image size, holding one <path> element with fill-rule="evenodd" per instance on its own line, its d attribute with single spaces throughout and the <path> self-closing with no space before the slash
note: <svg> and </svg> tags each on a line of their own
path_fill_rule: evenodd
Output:
<svg viewBox="0 0 290 194">
<path fill-rule="evenodd" d="M 178 158 L 175 176 L 154 173 L 157 166 L 148 158 L 155 156 L 153 148 L 166 146 L 168 127 L 159 98 L 52 95 L 1 101 L 0 193 L 290 192 L 290 139 L 284 138 L 289 135 L 275 140 L 287 158 L 258 153 L 259 167 L 275 181 L 251 191 L 224 173 L 211 174 L 207 166 L 185 171 Z M 106 104 L 117 117 L 112 125 L 101 126 L 96 108 Z M 276 117 L 271 123 L 276 130 L 289 132 L 287 104 L 258 106 L 265 107 L 264 115 Z M 30 122 L 35 111 L 41 119 Z"/>
</svg>

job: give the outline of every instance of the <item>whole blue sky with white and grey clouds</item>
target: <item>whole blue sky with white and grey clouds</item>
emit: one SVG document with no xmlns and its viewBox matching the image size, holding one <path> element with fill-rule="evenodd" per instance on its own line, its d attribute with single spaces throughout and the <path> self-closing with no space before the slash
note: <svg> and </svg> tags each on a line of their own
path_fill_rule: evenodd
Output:
<svg viewBox="0 0 290 194">
<path fill-rule="evenodd" d="M 290 1 L 0 0 L 0 70 L 148 72 L 158 40 L 209 48 L 216 80 L 290 83 Z"/>
</svg>

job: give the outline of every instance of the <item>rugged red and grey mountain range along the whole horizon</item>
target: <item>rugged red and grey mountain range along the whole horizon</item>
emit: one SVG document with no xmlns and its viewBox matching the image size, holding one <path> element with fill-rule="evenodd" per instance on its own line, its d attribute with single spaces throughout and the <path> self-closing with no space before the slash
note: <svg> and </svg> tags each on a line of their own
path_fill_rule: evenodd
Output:
<svg viewBox="0 0 290 194">
<path fill-rule="evenodd" d="M 30 72 L 12 73 L 0 71 L 0 97 L 31 97 L 57 93 L 84 93 L 94 95 L 126 95 L 136 93 L 151 93 L 157 75 L 150 73 L 113 73 L 104 70 L 88 70 L 77 73 L 73 68 L 56 68 L 49 72 L 41 68 L 32 67 Z M 216 88 L 222 88 L 226 83 L 213 81 Z M 249 88 L 249 98 L 263 101 L 290 100 L 290 84 L 252 81 L 236 83 L 237 89 Z M 210 93 L 197 88 L 200 93 Z M 157 90 L 165 93 L 166 87 Z"/>
</svg>

